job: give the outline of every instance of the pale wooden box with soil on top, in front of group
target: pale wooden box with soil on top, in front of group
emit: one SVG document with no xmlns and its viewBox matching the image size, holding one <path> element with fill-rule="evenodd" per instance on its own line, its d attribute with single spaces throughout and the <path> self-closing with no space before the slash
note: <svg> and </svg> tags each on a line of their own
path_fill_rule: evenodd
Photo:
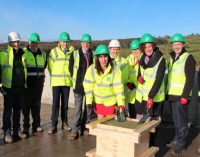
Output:
<svg viewBox="0 0 200 157">
<path fill-rule="evenodd" d="M 153 157 L 158 152 L 157 147 L 149 148 L 150 131 L 160 122 L 153 120 L 138 124 L 137 120 L 127 119 L 133 126 L 126 126 L 125 122 L 120 125 L 109 125 L 114 121 L 114 116 L 89 123 L 86 127 L 89 134 L 96 136 L 96 148 L 86 152 L 88 157 Z M 124 124 L 122 124 L 124 123 Z M 134 124 L 135 123 L 135 124 Z"/>
</svg>

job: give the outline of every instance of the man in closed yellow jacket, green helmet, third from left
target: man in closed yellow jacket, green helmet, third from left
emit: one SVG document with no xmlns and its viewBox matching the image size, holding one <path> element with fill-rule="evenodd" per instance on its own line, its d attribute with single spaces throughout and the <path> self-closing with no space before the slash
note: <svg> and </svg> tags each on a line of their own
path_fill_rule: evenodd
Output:
<svg viewBox="0 0 200 157">
<path fill-rule="evenodd" d="M 58 46 L 53 48 L 48 57 L 48 69 L 51 76 L 51 86 L 53 90 L 52 104 L 52 127 L 49 134 L 57 132 L 58 115 L 61 99 L 61 120 L 62 129 L 71 130 L 68 125 L 68 99 L 72 80 L 69 73 L 69 58 L 74 51 L 74 47 L 69 44 L 70 37 L 66 32 L 59 36 Z"/>
</svg>

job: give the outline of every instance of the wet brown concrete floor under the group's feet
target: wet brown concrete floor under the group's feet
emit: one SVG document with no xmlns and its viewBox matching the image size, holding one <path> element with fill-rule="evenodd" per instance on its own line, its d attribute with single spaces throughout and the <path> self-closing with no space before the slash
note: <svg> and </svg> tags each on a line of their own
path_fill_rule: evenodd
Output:
<svg viewBox="0 0 200 157">
<path fill-rule="evenodd" d="M 2 98 L 0 98 L 0 127 L 2 126 Z M 69 109 L 69 123 L 71 124 L 73 109 Z M 59 123 L 58 133 L 48 135 L 47 130 L 51 126 L 51 105 L 42 104 L 41 125 L 44 132 L 28 139 L 20 140 L 12 144 L 3 143 L 3 132 L 0 129 L 0 157 L 83 157 L 85 152 L 95 147 L 94 136 L 81 136 L 75 141 L 67 139 L 67 131 L 62 131 Z M 161 125 L 155 139 L 155 145 L 160 148 L 156 157 L 170 157 L 171 150 L 165 145 L 173 137 L 174 129 L 169 125 Z M 198 157 L 195 150 L 200 146 L 198 128 L 190 128 L 188 147 L 182 157 Z M 200 156 L 200 155 L 199 155 Z"/>
</svg>

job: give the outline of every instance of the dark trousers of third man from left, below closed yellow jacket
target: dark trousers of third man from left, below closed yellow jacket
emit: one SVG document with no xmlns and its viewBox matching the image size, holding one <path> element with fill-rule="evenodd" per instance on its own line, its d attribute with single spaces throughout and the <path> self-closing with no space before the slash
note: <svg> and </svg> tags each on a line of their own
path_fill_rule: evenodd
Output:
<svg viewBox="0 0 200 157">
<path fill-rule="evenodd" d="M 52 105 L 52 127 L 56 127 L 58 124 L 58 115 L 61 99 L 61 120 L 62 123 L 68 122 L 68 99 L 69 99 L 70 87 L 67 86 L 55 86 L 53 87 L 53 105 Z"/>
</svg>

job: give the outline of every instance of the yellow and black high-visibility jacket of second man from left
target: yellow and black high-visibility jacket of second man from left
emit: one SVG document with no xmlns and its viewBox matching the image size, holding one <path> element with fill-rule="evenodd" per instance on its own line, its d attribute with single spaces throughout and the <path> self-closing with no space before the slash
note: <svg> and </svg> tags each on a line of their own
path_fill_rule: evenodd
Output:
<svg viewBox="0 0 200 157">
<path fill-rule="evenodd" d="M 45 64 L 46 64 L 46 53 L 43 51 L 38 51 L 36 57 L 28 49 L 24 48 L 25 66 L 27 69 L 27 86 L 28 80 L 36 81 L 39 86 L 43 86 L 45 77 Z M 34 82 L 33 82 L 34 84 Z"/>
</svg>

